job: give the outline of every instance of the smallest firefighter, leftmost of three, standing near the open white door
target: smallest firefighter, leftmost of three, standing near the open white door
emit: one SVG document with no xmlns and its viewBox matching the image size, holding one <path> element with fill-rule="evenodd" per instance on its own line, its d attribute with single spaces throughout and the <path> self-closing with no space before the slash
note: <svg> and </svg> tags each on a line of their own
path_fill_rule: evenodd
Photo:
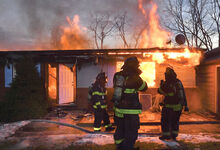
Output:
<svg viewBox="0 0 220 150">
<path fill-rule="evenodd" d="M 114 128 L 109 120 L 109 115 L 106 111 L 107 102 L 106 95 L 107 90 L 105 84 L 107 82 L 107 77 L 105 72 L 101 72 L 97 75 L 95 83 L 89 87 L 88 101 L 93 106 L 95 120 L 94 120 L 94 132 L 101 131 L 101 123 L 104 121 L 105 131 L 112 131 Z"/>
</svg>

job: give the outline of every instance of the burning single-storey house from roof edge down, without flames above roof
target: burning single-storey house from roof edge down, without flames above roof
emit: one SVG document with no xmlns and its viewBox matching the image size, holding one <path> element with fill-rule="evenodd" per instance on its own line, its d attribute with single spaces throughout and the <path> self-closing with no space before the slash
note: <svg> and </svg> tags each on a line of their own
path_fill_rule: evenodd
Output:
<svg viewBox="0 0 220 150">
<path fill-rule="evenodd" d="M 144 109 L 152 105 L 157 95 L 160 80 L 164 79 L 165 68 L 174 68 L 183 82 L 189 106 L 193 107 L 197 92 L 196 69 L 201 50 L 187 48 L 150 49 L 106 49 L 106 50 L 50 50 L 50 51 L 2 51 L 1 58 L 12 62 L 1 66 L 1 94 L 7 90 L 16 73 L 13 63 L 22 56 L 33 57 L 45 83 L 47 98 L 56 104 L 75 103 L 78 108 L 87 108 L 88 87 L 96 75 L 104 71 L 108 76 L 108 100 L 113 94 L 113 75 L 119 71 L 129 56 L 140 61 L 141 77 L 148 83 L 149 90 L 140 94 Z"/>
</svg>

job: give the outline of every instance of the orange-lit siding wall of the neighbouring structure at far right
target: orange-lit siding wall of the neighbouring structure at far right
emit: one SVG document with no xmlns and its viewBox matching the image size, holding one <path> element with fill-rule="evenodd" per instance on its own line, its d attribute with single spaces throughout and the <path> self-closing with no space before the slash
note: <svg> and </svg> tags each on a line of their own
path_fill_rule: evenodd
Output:
<svg viewBox="0 0 220 150">
<path fill-rule="evenodd" d="M 216 113 L 216 64 L 199 66 L 196 82 L 202 107 Z"/>
</svg>

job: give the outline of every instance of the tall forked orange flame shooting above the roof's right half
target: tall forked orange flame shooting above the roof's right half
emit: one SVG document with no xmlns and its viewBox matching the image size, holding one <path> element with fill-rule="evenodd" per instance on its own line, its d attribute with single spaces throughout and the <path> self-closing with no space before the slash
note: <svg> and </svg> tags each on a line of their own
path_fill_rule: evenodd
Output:
<svg viewBox="0 0 220 150">
<path fill-rule="evenodd" d="M 171 34 L 162 29 L 159 24 L 156 3 L 151 2 L 151 5 L 150 12 L 147 13 L 143 7 L 143 0 L 138 0 L 138 8 L 146 20 L 148 20 L 148 27 L 142 32 L 139 47 L 168 47 L 167 42 L 169 41 L 169 36 Z"/>
</svg>

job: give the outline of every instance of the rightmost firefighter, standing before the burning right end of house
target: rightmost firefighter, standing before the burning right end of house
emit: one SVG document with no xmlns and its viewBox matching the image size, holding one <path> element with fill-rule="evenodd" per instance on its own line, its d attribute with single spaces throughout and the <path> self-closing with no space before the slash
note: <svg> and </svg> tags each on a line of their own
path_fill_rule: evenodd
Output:
<svg viewBox="0 0 220 150">
<path fill-rule="evenodd" d="M 161 80 L 158 93 L 165 96 L 161 112 L 161 140 L 176 140 L 179 132 L 179 120 L 184 111 L 189 111 L 182 82 L 171 67 L 166 68 L 165 81 Z"/>
</svg>

